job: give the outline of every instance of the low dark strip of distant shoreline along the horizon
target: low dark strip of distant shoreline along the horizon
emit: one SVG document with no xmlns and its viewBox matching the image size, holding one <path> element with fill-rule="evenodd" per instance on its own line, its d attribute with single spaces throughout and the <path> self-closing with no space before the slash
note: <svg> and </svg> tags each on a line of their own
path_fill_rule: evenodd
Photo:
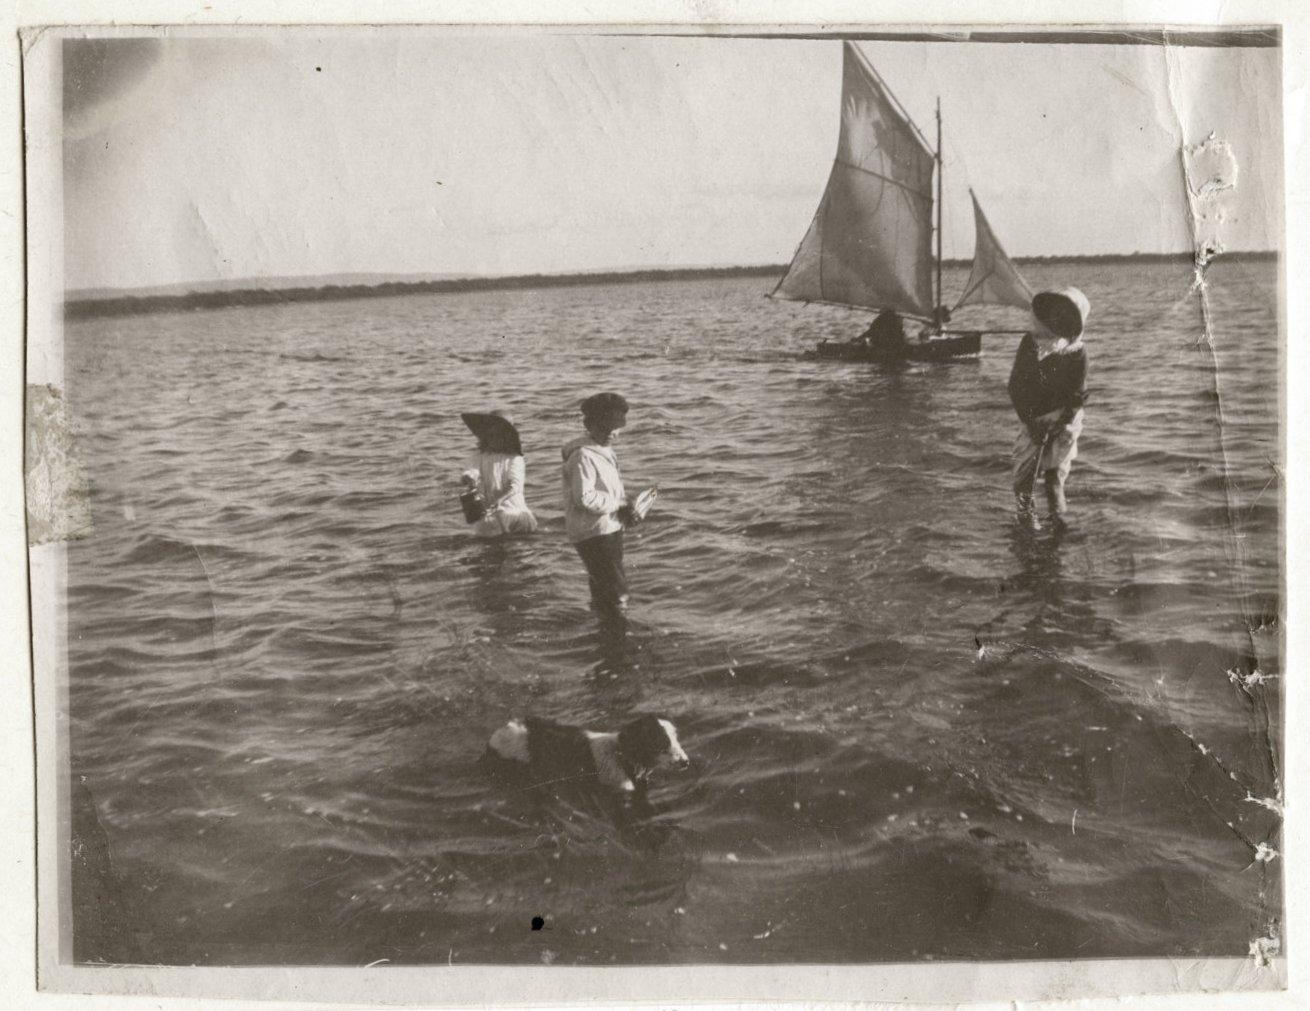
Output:
<svg viewBox="0 0 1310 1011">
<path fill-rule="evenodd" d="M 1225 253 L 1221 259 L 1268 261 L 1277 251 Z M 1015 257 L 1019 265 L 1049 263 L 1188 263 L 1191 253 L 1108 253 L 1085 257 Z M 967 267 L 967 259 L 947 259 L 943 266 Z M 727 278 L 781 278 L 786 263 L 756 267 L 675 267 L 667 270 L 624 270 L 596 274 L 516 274 L 499 278 L 455 278 L 417 282 L 383 282 L 379 284 L 324 284 L 286 288 L 232 288 L 196 291 L 183 295 L 114 295 L 64 301 L 66 320 L 89 320 L 106 316 L 139 316 L 143 313 L 194 312 L 248 305 L 280 305 L 286 303 L 345 301 L 351 299 L 389 299 L 402 295 L 457 295 L 481 291 L 519 291 L 529 288 L 567 288 L 592 284 L 641 284 L 662 280 L 715 280 Z"/>
</svg>

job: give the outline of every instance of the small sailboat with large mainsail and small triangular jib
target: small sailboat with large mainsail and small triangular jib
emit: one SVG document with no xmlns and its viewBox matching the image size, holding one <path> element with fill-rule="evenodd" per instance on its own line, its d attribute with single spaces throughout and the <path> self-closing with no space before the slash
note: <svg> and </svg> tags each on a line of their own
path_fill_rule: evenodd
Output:
<svg viewBox="0 0 1310 1011">
<path fill-rule="evenodd" d="M 1028 309 L 1032 289 L 1001 248 L 972 190 L 969 196 L 973 268 L 954 309 L 977 304 Z M 934 148 L 850 42 L 842 43 L 841 135 L 828 186 L 770 297 L 886 313 L 880 318 L 896 327 L 896 317 L 922 323 L 917 339 L 889 344 L 824 340 L 812 352 L 819 358 L 951 359 L 977 355 L 984 333 L 1010 333 L 946 329 L 954 309 L 942 301 L 942 102 L 937 102 Z"/>
</svg>

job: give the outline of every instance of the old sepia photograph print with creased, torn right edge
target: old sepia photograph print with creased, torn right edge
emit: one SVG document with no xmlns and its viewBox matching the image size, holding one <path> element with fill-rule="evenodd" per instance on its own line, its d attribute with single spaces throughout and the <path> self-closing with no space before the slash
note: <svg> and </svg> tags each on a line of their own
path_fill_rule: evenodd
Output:
<svg viewBox="0 0 1310 1011">
<path fill-rule="evenodd" d="M 46 965 L 1277 985 L 1281 52 L 28 38 Z"/>
</svg>

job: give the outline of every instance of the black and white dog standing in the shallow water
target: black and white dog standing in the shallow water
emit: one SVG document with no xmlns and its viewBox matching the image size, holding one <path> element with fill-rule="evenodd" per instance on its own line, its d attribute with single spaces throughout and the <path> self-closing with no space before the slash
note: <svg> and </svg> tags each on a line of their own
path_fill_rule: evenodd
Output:
<svg viewBox="0 0 1310 1011">
<path fill-rule="evenodd" d="M 690 765 L 673 724 L 659 716 L 638 716 L 617 733 L 511 720 L 491 735 L 487 754 L 524 766 L 541 783 L 590 778 L 624 794 L 643 792 L 656 769 Z"/>
</svg>

